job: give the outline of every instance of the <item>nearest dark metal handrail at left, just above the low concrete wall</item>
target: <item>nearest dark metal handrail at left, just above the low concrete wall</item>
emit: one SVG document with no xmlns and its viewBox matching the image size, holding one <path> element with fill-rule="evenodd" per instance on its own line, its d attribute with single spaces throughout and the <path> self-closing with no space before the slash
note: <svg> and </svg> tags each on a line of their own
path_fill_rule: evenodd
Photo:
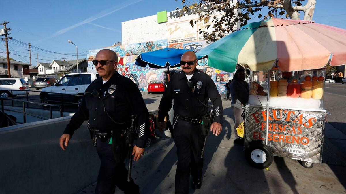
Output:
<svg viewBox="0 0 346 194">
<path fill-rule="evenodd" d="M 27 104 L 36 104 L 36 105 L 40 105 L 40 106 L 48 106 L 49 107 L 49 118 L 50 119 L 53 118 L 52 107 L 57 107 L 60 110 L 60 117 L 63 117 L 63 109 L 59 105 L 49 105 L 49 104 L 44 104 L 44 103 L 37 103 L 37 102 L 31 102 L 31 101 L 27 101 L 27 100 L 19 100 L 19 99 L 7 98 L 7 97 L 0 97 L 0 99 L 1 99 L 1 111 L 2 112 L 4 112 L 4 110 L 5 110 L 4 109 L 3 100 L 12 100 L 12 103 L 13 103 L 13 101 L 20 101 L 20 102 L 22 102 L 23 103 L 23 111 L 22 112 L 20 112 L 18 110 L 9 110 L 9 109 L 6 109 L 6 110 L 13 111 L 13 112 L 18 112 L 18 113 L 23 113 L 23 122 L 24 123 L 26 123 L 26 115 L 30 115 L 30 116 L 34 116 L 34 117 L 46 120 L 44 117 L 40 117 L 40 116 L 37 116 L 37 115 L 33 115 L 31 113 L 27 113 L 25 111 L 25 103 L 27 103 Z"/>
</svg>

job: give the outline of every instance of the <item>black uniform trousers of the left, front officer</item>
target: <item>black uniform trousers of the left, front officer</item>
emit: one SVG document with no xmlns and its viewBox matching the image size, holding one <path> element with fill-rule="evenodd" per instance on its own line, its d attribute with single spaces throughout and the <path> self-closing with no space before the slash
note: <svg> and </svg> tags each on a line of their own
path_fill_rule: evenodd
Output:
<svg viewBox="0 0 346 194">
<path fill-rule="evenodd" d="M 131 178 L 127 182 L 127 169 L 124 161 L 117 164 L 114 158 L 112 145 L 97 139 L 97 154 L 101 160 L 99 176 L 97 178 L 96 194 L 114 194 L 116 186 L 125 194 L 139 193 L 139 186 Z"/>
</svg>

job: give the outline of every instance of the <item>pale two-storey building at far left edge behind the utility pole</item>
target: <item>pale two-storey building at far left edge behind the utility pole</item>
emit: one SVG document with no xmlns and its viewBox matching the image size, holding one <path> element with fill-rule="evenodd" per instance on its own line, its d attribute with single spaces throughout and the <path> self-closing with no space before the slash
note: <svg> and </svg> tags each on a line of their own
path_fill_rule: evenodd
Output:
<svg viewBox="0 0 346 194">
<path fill-rule="evenodd" d="M 10 60 L 10 73 L 11 77 L 25 78 L 30 76 L 30 64 Z M 0 57 L 0 77 L 8 77 L 7 59 Z"/>
</svg>

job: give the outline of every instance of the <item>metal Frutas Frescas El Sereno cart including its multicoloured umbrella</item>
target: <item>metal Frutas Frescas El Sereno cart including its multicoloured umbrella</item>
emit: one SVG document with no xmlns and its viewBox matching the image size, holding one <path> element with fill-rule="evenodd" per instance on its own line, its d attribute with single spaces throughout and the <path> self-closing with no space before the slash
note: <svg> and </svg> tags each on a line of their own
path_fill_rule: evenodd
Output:
<svg viewBox="0 0 346 194">
<path fill-rule="evenodd" d="M 244 145 L 265 168 L 273 156 L 321 163 L 326 65 L 346 64 L 346 30 L 314 21 L 269 18 L 248 23 L 196 53 L 210 67 L 250 70 Z"/>
</svg>

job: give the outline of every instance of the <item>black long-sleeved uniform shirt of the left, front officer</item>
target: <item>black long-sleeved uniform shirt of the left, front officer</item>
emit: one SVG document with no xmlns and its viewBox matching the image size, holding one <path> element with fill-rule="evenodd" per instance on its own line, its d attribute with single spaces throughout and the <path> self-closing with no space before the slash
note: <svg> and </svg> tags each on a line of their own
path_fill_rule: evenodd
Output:
<svg viewBox="0 0 346 194">
<path fill-rule="evenodd" d="M 116 89 L 111 94 L 109 87 Z M 145 140 L 149 137 L 149 113 L 144 103 L 142 94 L 137 85 L 127 77 L 115 72 L 112 77 L 103 84 L 102 77 L 94 80 L 85 90 L 85 94 L 90 94 L 94 89 L 100 94 L 103 100 L 106 111 L 117 122 L 130 122 L 132 114 L 137 115 L 136 124 L 138 128 L 138 139 L 136 146 L 145 147 Z M 73 132 L 78 129 L 85 120 L 89 119 L 91 128 L 98 130 L 121 129 L 126 125 L 118 125 L 114 123 L 104 112 L 103 105 L 100 99 L 92 95 L 84 95 L 83 100 L 71 117 L 71 121 L 67 124 L 64 133 L 73 135 Z"/>
</svg>

